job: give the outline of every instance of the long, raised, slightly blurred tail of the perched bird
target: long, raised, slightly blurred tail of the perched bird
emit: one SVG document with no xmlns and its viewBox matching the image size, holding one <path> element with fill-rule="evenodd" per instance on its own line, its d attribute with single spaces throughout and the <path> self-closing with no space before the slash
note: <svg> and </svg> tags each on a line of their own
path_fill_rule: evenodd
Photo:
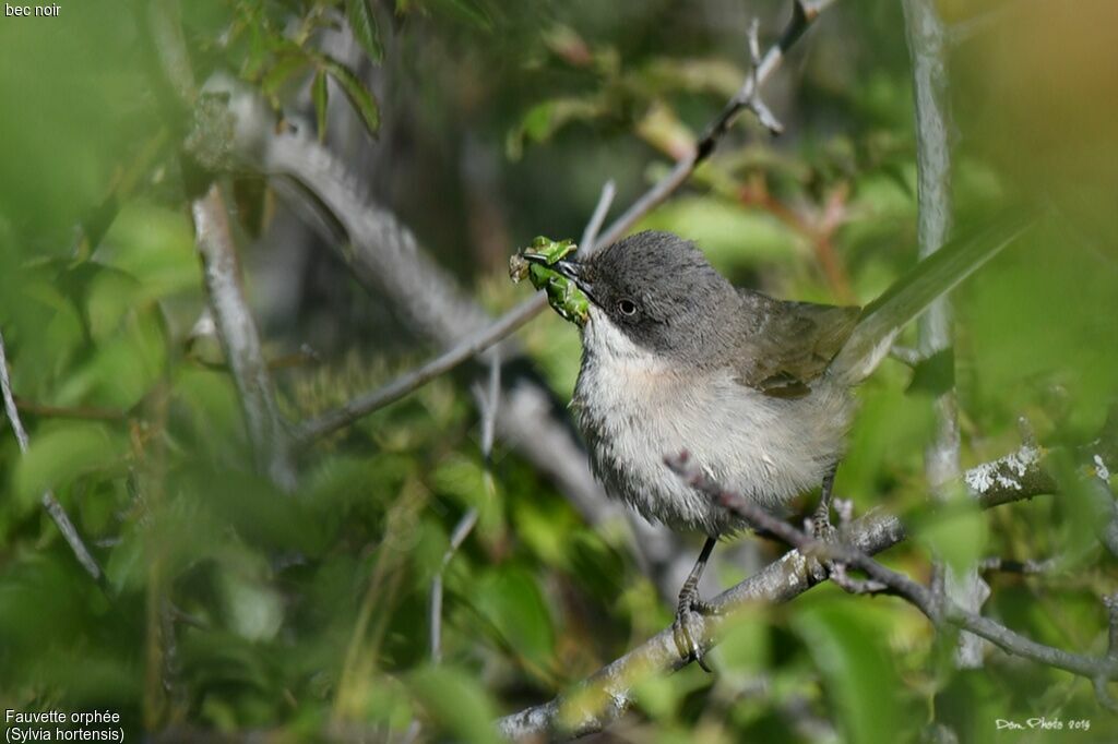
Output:
<svg viewBox="0 0 1118 744">
<path fill-rule="evenodd" d="M 828 374 L 850 384 L 864 380 L 889 353 L 901 328 L 1013 242 L 1032 222 L 1033 217 L 1023 210 L 1002 212 L 917 264 L 865 306 L 850 338 L 831 362 Z"/>
</svg>

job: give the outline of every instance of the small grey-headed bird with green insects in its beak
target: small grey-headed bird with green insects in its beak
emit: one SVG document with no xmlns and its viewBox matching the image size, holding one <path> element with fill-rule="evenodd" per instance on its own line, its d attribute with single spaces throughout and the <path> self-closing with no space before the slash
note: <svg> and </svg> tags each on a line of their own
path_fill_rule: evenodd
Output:
<svg viewBox="0 0 1118 744">
<path fill-rule="evenodd" d="M 681 656 L 702 662 L 690 624 L 711 608 L 698 582 L 718 537 L 748 525 L 676 477 L 665 456 L 686 451 L 705 475 L 770 508 L 822 485 L 816 519 L 826 523 L 852 388 L 903 325 L 1020 229 L 1011 217 L 945 246 L 864 311 L 736 288 L 670 232 L 548 265 L 589 299 L 571 407 L 595 474 L 644 517 L 708 536 L 679 597 Z"/>
</svg>

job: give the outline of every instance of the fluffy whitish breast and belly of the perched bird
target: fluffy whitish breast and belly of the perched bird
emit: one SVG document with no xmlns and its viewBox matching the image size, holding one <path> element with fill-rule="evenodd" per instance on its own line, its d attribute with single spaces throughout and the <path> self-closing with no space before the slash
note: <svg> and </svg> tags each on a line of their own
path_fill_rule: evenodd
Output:
<svg viewBox="0 0 1118 744">
<path fill-rule="evenodd" d="M 606 490 L 648 519 L 717 535 L 740 527 L 684 485 L 664 456 L 686 450 L 719 484 L 775 507 L 817 487 L 842 452 L 850 398 L 822 382 L 796 400 L 765 395 L 730 369 L 666 361 L 591 309 L 571 406 Z"/>
</svg>

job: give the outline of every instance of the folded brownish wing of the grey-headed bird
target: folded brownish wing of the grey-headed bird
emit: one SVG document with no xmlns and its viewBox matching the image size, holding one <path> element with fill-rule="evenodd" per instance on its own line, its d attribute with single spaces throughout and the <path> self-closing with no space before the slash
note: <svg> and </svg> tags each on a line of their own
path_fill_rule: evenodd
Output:
<svg viewBox="0 0 1118 744">
<path fill-rule="evenodd" d="M 742 292 L 752 323 L 738 380 L 775 398 L 800 398 L 850 337 L 861 309 L 781 302 Z"/>
</svg>

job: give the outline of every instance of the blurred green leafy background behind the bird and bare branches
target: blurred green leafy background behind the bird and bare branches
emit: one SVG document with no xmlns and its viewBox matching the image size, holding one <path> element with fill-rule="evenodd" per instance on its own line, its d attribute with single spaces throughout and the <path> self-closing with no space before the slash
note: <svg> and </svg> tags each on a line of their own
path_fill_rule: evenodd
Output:
<svg viewBox="0 0 1118 744">
<path fill-rule="evenodd" d="M 358 37 L 354 4 L 375 23 Z M 487 741 L 496 715 L 550 699 L 666 627 L 672 603 L 625 542 L 587 525 L 500 440 L 486 485 L 476 370 L 303 454 L 293 495 L 253 473 L 228 372 L 187 343 L 206 305 L 180 158 L 190 121 L 163 79 L 152 9 L 59 7 L 0 18 L 0 331 L 31 441 L 21 457 L 7 427 L 0 436 L 0 708 L 110 708 L 130 737 L 397 741 L 418 719 L 424 738 Z M 318 133 L 494 313 L 524 297 L 509 255 L 536 235 L 577 239 L 607 179 L 619 213 L 745 79 L 750 20 L 767 47 L 790 12 L 768 0 L 200 0 L 181 11 L 199 83 L 224 71 L 260 88 L 277 122 Z M 1007 200 L 1054 216 L 955 296 L 973 465 L 1017 447 L 1022 416 L 1045 445 L 1090 440 L 1118 388 L 1118 6 L 944 0 L 939 11 L 958 221 Z M 316 55 L 358 84 L 331 77 L 321 112 Z M 916 256 L 910 75 L 900 4 L 837 2 L 765 89 L 786 133 L 773 140 L 743 116 L 641 227 L 698 241 L 736 283 L 776 296 L 871 301 Z M 265 354 L 318 354 L 275 372 L 288 418 L 435 351 L 274 184 L 219 180 Z M 519 337 L 566 402 L 574 330 L 547 313 Z M 935 390 L 911 379 L 887 361 L 860 391 L 836 487 L 856 513 L 927 499 Z M 48 487 L 105 566 L 107 597 L 39 505 Z M 433 665 L 427 591 L 470 507 L 480 523 L 447 567 Z M 927 580 L 929 544 L 1062 556 L 1054 576 L 988 576 L 984 612 L 1042 642 L 1105 650 L 1115 563 L 1089 519 L 1038 498 L 961 522 L 888 562 Z M 742 578 L 731 569 L 721 585 Z M 1049 741 L 995 731 L 998 718 L 1044 716 L 1089 718 L 1076 741 L 1118 736 L 1088 681 L 998 652 L 957 671 L 950 648 L 899 600 L 825 585 L 742 617 L 714 655 L 719 674 L 692 666 L 642 684 L 615 732 L 893 742 L 938 722 L 959 741 Z"/>
</svg>

